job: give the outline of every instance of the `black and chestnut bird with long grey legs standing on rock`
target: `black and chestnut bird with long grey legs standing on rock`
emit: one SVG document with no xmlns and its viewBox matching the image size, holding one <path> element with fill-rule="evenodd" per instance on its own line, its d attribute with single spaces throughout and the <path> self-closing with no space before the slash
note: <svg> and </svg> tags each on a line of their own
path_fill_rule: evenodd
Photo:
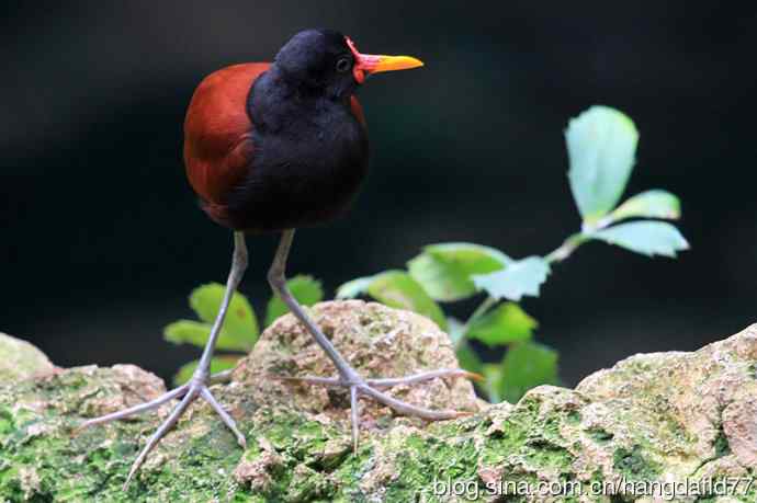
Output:
<svg viewBox="0 0 757 503">
<path fill-rule="evenodd" d="M 421 66 L 419 59 L 410 56 L 362 54 L 352 39 L 340 32 L 313 28 L 292 36 L 272 62 L 231 65 L 205 77 L 197 85 L 184 119 L 184 167 L 202 209 L 211 220 L 233 233 L 231 267 L 218 315 L 192 378 L 155 400 L 91 419 L 81 425 L 83 428 L 128 418 L 180 399 L 134 460 L 124 488 L 149 453 L 199 398 L 212 407 L 238 444 L 246 447 L 245 435 L 210 390 L 211 384 L 227 376 L 211 376 L 210 363 L 229 301 L 248 266 L 247 236 L 281 233 L 268 282 L 337 370 L 336 377 L 292 379 L 340 387 L 349 392 L 355 450 L 361 396 L 400 414 L 429 421 L 466 414 L 420 408 L 381 388 L 448 376 L 476 378 L 476 375 L 460 368 L 442 368 L 399 378 L 365 379 L 344 359 L 286 286 L 286 260 L 295 229 L 328 222 L 343 215 L 368 173 L 368 128 L 355 92 L 370 76 Z"/>
</svg>

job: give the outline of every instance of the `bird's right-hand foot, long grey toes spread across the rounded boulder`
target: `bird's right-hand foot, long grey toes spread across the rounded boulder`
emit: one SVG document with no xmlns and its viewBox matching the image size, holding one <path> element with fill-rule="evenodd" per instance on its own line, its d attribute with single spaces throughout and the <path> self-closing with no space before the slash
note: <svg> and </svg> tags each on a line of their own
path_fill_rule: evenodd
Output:
<svg viewBox="0 0 757 503">
<path fill-rule="evenodd" d="M 403 400 L 398 400 L 383 391 L 381 388 L 392 388 L 399 385 L 416 385 L 418 382 L 423 382 L 427 380 L 436 379 L 438 377 L 465 377 L 475 380 L 483 380 L 483 376 L 463 370 L 461 368 L 440 368 L 437 370 L 425 371 L 420 374 L 414 374 L 406 377 L 396 378 L 383 378 L 383 379 L 363 379 L 357 375 L 352 378 L 344 377 L 284 377 L 284 376 L 272 376 L 276 379 L 306 382 L 316 386 L 327 386 L 330 388 L 348 388 L 350 391 L 350 409 L 351 409 L 351 422 L 352 422 L 352 448 L 354 451 L 358 450 L 358 437 L 359 437 L 359 410 L 358 410 L 358 398 L 360 396 L 371 397 L 373 400 L 381 402 L 396 412 L 404 415 L 410 415 L 416 418 L 421 418 L 427 421 L 442 421 L 455 418 L 462 418 L 470 415 L 471 412 L 455 411 L 455 410 L 432 410 L 422 407 L 414 405 L 407 403 Z"/>
</svg>

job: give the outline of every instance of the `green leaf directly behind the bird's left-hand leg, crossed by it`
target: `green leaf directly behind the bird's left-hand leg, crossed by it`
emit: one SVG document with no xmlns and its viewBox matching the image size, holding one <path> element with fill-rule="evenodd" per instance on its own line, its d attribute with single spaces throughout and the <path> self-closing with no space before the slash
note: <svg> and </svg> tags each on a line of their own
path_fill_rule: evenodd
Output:
<svg viewBox="0 0 757 503">
<path fill-rule="evenodd" d="M 221 309 L 225 291 L 226 287 L 218 283 L 202 285 L 192 290 L 190 306 L 202 321 L 213 323 L 218 315 L 218 309 Z M 249 351 L 255 345 L 259 334 L 258 318 L 255 316 L 250 302 L 247 297 L 235 291 L 224 320 L 222 331 L 224 345 L 218 345 L 218 347 Z"/>
</svg>

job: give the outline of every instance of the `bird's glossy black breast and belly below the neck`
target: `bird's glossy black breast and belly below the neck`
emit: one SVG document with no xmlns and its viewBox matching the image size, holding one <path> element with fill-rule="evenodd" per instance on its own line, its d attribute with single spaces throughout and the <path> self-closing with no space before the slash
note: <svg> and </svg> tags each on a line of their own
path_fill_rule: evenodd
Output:
<svg viewBox="0 0 757 503">
<path fill-rule="evenodd" d="M 278 98 L 251 100 L 255 156 L 227 201 L 237 229 L 265 232 L 328 221 L 350 206 L 368 171 L 368 135 L 349 102 Z"/>
</svg>

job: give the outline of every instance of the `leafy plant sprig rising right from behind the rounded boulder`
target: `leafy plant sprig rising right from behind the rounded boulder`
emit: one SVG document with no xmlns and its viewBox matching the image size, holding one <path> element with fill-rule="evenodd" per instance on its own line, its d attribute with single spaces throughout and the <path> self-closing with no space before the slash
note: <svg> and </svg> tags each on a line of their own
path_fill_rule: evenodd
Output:
<svg viewBox="0 0 757 503">
<path fill-rule="evenodd" d="M 492 401 L 518 400 L 528 389 L 558 381 L 557 353 L 533 340 L 538 322 L 519 302 L 539 297 L 552 265 L 588 241 L 614 244 L 648 256 L 676 256 L 688 249 L 676 227 L 660 221 L 680 218 L 680 202 L 669 192 L 651 190 L 618 204 L 635 163 L 639 133 L 623 113 L 592 106 L 573 118 L 565 132 L 568 180 L 581 217 L 581 229 L 553 252 L 515 260 L 481 244 L 431 244 L 394 270 L 342 285 L 339 298 L 370 296 L 387 306 L 410 309 L 448 331 L 461 365 L 483 374 Z M 633 221 L 628 221 L 633 220 Z M 465 322 L 444 313 L 442 305 L 483 296 Z M 484 363 L 470 344 L 505 346 L 497 363 Z"/>
</svg>

